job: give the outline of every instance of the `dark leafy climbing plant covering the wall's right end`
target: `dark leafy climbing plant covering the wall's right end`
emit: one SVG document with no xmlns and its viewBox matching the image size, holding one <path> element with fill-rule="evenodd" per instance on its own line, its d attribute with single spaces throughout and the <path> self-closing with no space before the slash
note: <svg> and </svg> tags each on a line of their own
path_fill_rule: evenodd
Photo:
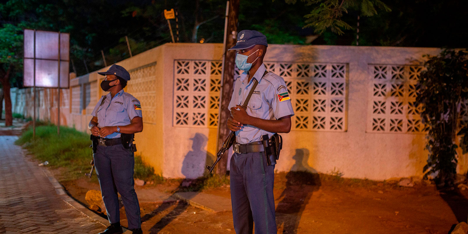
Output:
<svg viewBox="0 0 468 234">
<path fill-rule="evenodd" d="M 439 187 L 453 186 L 457 166 L 456 132 L 460 126 L 461 101 L 468 98 L 468 55 L 466 51 L 444 50 L 427 56 L 425 71 L 418 80 L 416 102 L 428 127 L 429 151 L 424 177 L 436 174 Z M 465 127 L 466 131 L 466 127 Z"/>
</svg>

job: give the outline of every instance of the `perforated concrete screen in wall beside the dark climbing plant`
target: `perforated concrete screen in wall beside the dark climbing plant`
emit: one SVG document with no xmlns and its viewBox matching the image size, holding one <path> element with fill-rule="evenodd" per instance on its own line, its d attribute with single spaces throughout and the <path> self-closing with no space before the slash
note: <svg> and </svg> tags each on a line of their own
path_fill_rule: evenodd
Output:
<svg viewBox="0 0 468 234">
<path fill-rule="evenodd" d="M 367 132 L 424 133 L 422 107 L 416 105 L 423 66 L 369 64 Z"/>
</svg>

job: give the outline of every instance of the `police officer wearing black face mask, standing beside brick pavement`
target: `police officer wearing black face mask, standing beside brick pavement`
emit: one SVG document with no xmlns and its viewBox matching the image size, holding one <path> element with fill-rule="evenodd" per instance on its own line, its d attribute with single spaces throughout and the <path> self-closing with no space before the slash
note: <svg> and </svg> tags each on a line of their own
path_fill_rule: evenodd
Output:
<svg viewBox="0 0 468 234">
<path fill-rule="evenodd" d="M 101 82 L 102 90 L 110 93 L 97 102 L 88 128 L 98 137 L 94 163 L 110 222 L 110 226 L 100 234 L 123 233 L 117 191 L 125 206 L 128 228 L 134 234 L 141 234 L 140 207 L 133 188 L 133 150 L 125 148 L 120 138 L 121 133 L 133 134 L 143 130 L 140 102 L 123 90 L 130 80 L 125 68 L 112 65 L 107 72 L 99 74 L 105 75 Z"/>
</svg>

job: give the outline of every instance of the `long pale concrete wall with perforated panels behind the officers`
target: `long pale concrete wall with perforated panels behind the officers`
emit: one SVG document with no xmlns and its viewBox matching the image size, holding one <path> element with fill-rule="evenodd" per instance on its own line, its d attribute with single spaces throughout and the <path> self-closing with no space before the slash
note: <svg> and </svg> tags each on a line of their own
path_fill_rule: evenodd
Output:
<svg viewBox="0 0 468 234">
<path fill-rule="evenodd" d="M 136 135 L 139 150 L 137 154 L 141 154 L 144 161 L 162 176 L 189 178 L 201 176 L 205 172 L 205 165 L 211 164 L 215 158 L 216 126 L 209 123 L 201 126 L 193 126 L 192 123 L 176 124 L 176 112 L 185 110 L 176 108 L 175 98 L 185 92 L 176 90 L 175 78 L 193 80 L 202 77 L 208 82 L 209 88 L 210 80 L 219 79 L 220 75 L 198 76 L 190 70 L 190 74 L 185 76 L 176 71 L 175 61 L 190 61 L 190 67 L 198 61 L 210 64 L 211 61 L 222 59 L 221 50 L 222 44 L 164 44 L 118 63 L 131 71 L 132 80 L 129 81 L 126 91 L 139 98 L 143 109 L 144 131 Z M 339 171 L 344 173 L 344 177 L 374 180 L 422 176 L 422 168 L 427 159 L 427 152 L 424 150 L 425 134 L 422 130 L 411 132 L 409 127 L 406 127 L 409 126 L 410 120 L 417 120 L 417 117 L 408 114 L 408 102 L 413 100 L 408 96 L 410 95 L 408 86 L 413 82 L 409 80 L 409 76 L 412 74 L 410 69 L 420 65 L 417 60 L 421 60 L 422 55 L 437 53 L 439 53 L 438 48 L 270 45 L 264 61 L 275 66 L 272 70 L 275 73 L 283 72 L 283 65 L 287 70 L 288 64 L 292 64 L 293 67 L 307 65 L 310 70 L 308 70 L 310 74 L 300 76 L 300 72 L 293 68 L 292 74 L 283 75 L 286 81 L 291 82 L 291 87 L 288 89 L 292 96 L 293 107 L 296 108 L 295 100 L 299 98 L 307 99 L 309 106 L 307 111 L 296 112 L 296 116 L 292 118 L 292 131 L 282 134 L 285 144 L 276 169 L 322 173 Z M 327 77 L 314 77 L 314 74 L 319 73 L 316 68 L 312 69 L 314 65 L 327 67 Z M 332 66 L 343 66 L 340 73 L 343 78 L 336 78 L 344 84 L 344 94 L 341 96 L 333 96 L 329 87 L 335 82 L 332 73 L 336 70 L 333 70 L 335 68 Z M 374 83 L 381 81 L 374 78 L 373 69 L 377 66 L 388 69 L 386 73 L 388 80 L 385 81 L 389 87 L 387 96 L 373 95 Z M 399 68 L 402 69 L 400 73 L 392 71 Z M 396 83 L 391 78 L 394 74 L 396 74 Z M 399 74 L 404 76 L 405 80 L 398 81 Z M 68 104 L 62 104 L 64 105 L 63 120 L 61 119 L 63 124 L 75 126 L 80 131 L 87 131 L 91 110 L 103 94 L 99 88 L 100 78 L 102 76 L 93 72 L 71 80 L 72 91 L 64 92 L 64 101 Z M 314 100 L 321 97 L 314 94 L 300 94 L 299 89 L 294 86 L 296 82 L 303 82 L 302 84 L 308 82 L 309 92 L 313 93 L 314 82 L 322 81 L 327 83 L 328 88 L 326 97 L 322 98 L 326 99 L 327 109 L 323 113 L 315 113 Z M 393 92 L 391 89 L 393 84 L 402 84 L 406 90 L 405 95 L 401 98 L 396 97 L 397 95 L 392 96 L 390 93 Z M 25 98 L 30 97 L 28 92 L 29 89 L 12 90 L 12 95 L 18 94 L 18 101 L 14 102 L 18 104 L 14 105 L 14 111 L 26 116 L 32 115 L 30 101 L 26 101 L 30 99 Z M 194 94 L 187 92 L 187 95 Z M 206 98 L 219 96 L 219 92 L 211 91 L 200 94 Z M 54 93 L 47 95 L 50 100 L 51 95 L 53 99 Z M 343 110 L 339 113 L 330 109 L 329 102 L 334 100 L 344 102 Z M 378 115 L 373 111 L 373 102 L 376 100 L 387 102 L 385 115 Z M 404 113 L 391 115 L 390 111 L 393 109 L 390 109 L 390 101 L 401 102 L 401 110 L 404 110 Z M 53 104 L 51 106 L 53 107 Z M 41 118 L 55 122 L 56 118 L 51 117 L 55 109 L 47 111 L 46 109 L 44 107 L 41 109 Z M 188 112 L 190 111 L 192 110 Z M 193 111 L 205 111 L 204 113 L 209 116 L 217 110 L 207 107 Z M 316 116 L 326 118 L 327 124 L 323 129 L 314 129 L 312 119 Z M 307 126 L 296 126 L 298 117 L 308 117 Z M 343 119 L 341 129 L 332 129 L 329 122 L 333 117 Z M 377 117 L 386 119 L 385 131 L 373 130 L 373 118 Z M 398 123 L 402 123 L 403 130 L 391 132 L 391 119 L 401 119 L 402 122 Z M 208 117 L 205 122 L 208 122 Z M 221 126 L 225 127 L 225 120 L 220 122 Z M 468 161 L 461 157 L 458 170 L 465 173 L 467 166 Z"/>
</svg>

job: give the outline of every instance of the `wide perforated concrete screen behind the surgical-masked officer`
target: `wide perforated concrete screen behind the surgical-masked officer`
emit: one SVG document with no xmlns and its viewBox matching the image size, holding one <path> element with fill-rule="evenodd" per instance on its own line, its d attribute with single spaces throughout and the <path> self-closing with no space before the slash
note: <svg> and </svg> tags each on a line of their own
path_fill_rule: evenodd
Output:
<svg viewBox="0 0 468 234">
<path fill-rule="evenodd" d="M 292 130 L 346 131 L 347 64 L 264 62 L 285 79 L 294 117 Z M 175 127 L 217 127 L 221 61 L 175 60 Z M 239 70 L 234 71 L 237 77 Z"/>
</svg>

